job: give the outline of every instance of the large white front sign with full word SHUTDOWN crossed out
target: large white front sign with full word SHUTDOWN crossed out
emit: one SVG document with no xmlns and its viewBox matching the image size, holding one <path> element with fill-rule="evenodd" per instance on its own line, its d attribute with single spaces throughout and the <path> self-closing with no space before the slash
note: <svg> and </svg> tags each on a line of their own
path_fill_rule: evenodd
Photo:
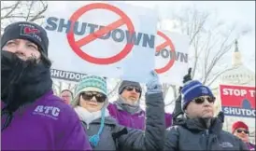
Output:
<svg viewBox="0 0 256 151">
<path fill-rule="evenodd" d="M 155 11 L 117 2 L 61 4 L 49 2 L 43 24 L 52 69 L 146 82 L 155 66 Z"/>
</svg>

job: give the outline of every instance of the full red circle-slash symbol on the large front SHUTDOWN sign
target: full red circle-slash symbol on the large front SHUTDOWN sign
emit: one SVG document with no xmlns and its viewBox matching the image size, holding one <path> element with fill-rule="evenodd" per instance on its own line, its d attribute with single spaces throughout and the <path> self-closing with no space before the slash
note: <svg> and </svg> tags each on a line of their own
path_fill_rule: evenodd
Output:
<svg viewBox="0 0 256 151">
<path fill-rule="evenodd" d="M 75 22 L 78 21 L 78 18 L 82 14 L 84 14 L 85 12 L 87 12 L 89 10 L 99 9 L 99 8 L 107 9 L 107 10 L 117 13 L 119 16 L 121 16 L 121 19 L 108 24 L 106 27 L 103 27 L 103 28 L 95 31 L 94 33 L 89 34 L 89 35 L 79 39 L 78 41 L 75 41 L 74 32 L 73 32 L 73 30 L 71 30 L 68 34 L 66 34 L 68 43 L 69 43 L 70 47 L 75 51 L 75 53 L 77 53 L 78 56 L 85 61 L 92 62 L 95 64 L 111 64 L 114 62 L 119 62 L 132 50 L 132 48 L 134 47 L 134 43 L 132 43 L 132 44 L 127 43 L 125 45 L 125 47 L 121 50 L 120 53 L 118 53 L 112 57 L 109 57 L 109 58 L 92 57 L 92 56 L 88 55 L 87 53 L 83 52 L 80 49 L 80 47 L 87 45 L 88 43 L 92 42 L 96 38 L 98 38 L 104 34 L 107 34 L 111 30 L 114 30 L 123 24 L 126 24 L 129 34 L 134 34 L 135 27 L 134 27 L 131 19 L 129 19 L 129 17 L 124 12 L 122 12 L 120 8 L 114 7 L 114 6 L 105 4 L 105 3 L 93 3 L 90 5 L 84 6 L 84 7 L 80 7 L 69 19 L 69 21 L 72 22 L 71 29 L 74 29 Z"/>
</svg>

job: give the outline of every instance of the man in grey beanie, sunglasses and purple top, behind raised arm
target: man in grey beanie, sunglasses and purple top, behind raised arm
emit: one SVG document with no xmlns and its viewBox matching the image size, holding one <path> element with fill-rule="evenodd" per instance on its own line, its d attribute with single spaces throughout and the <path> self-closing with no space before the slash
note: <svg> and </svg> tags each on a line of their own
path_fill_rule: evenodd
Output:
<svg viewBox="0 0 256 151">
<path fill-rule="evenodd" d="M 119 88 L 119 99 L 109 103 L 107 109 L 118 123 L 134 129 L 145 130 L 145 111 L 140 107 L 142 89 L 139 83 L 123 80 Z M 171 114 L 165 114 L 165 128 L 172 124 Z"/>
</svg>

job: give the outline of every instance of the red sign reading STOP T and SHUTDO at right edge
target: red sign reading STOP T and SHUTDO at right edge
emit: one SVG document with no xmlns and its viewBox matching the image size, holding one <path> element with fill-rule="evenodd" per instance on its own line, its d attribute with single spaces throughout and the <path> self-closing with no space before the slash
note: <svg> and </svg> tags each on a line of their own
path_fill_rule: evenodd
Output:
<svg viewBox="0 0 256 151">
<path fill-rule="evenodd" d="M 255 87 L 220 85 L 220 100 L 226 116 L 255 117 Z"/>
</svg>

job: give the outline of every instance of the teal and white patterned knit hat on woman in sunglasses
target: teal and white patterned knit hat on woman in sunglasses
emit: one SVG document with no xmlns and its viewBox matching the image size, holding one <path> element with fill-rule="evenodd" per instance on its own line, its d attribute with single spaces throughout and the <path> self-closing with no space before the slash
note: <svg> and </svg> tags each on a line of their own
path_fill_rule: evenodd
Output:
<svg viewBox="0 0 256 151">
<path fill-rule="evenodd" d="M 82 78 L 75 89 L 75 98 L 72 102 L 74 107 L 78 104 L 80 93 L 84 91 L 97 91 L 107 95 L 107 81 L 100 76 L 85 76 Z"/>
</svg>

